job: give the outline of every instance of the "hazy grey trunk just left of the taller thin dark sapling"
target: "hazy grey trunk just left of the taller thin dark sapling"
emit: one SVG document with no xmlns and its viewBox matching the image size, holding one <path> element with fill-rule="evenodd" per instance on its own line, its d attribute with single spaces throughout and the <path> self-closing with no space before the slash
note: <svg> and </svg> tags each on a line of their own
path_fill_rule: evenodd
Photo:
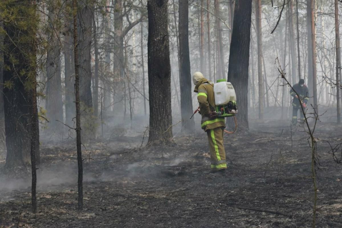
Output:
<svg viewBox="0 0 342 228">
<path fill-rule="evenodd" d="M 75 63 L 73 46 L 73 21 L 66 18 L 64 35 L 64 68 L 65 68 L 65 123 L 73 126 L 75 109 Z"/>
</svg>

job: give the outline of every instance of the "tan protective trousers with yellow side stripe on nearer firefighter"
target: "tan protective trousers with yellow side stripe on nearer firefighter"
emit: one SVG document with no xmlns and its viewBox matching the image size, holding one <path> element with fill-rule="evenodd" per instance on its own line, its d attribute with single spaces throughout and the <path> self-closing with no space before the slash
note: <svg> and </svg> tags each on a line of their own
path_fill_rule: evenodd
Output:
<svg viewBox="0 0 342 228">
<path fill-rule="evenodd" d="M 208 129 L 211 170 L 227 169 L 226 152 L 223 146 L 224 127 Z"/>
</svg>

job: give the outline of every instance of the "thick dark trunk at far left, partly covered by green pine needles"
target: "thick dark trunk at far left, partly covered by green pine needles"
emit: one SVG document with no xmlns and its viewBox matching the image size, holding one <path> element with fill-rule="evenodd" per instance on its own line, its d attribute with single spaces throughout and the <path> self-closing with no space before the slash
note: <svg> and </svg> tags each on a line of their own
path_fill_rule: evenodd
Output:
<svg viewBox="0 0 342 228">
<path fill-rule="evenodd" d="M 14 168 L 30 163 L 30 136 L 31 106 L 30 94 L 31 79 L 36 76 L 35 53 L 36 32 L 31 25 L 35 21 L 35 6 L 25 1 L 8 3 L 7 7 L 17 12 L 17 17 L 10 21 L 4 21 L 4 72 L 3 72 L 3 97 L 4 99 L 4 120 L 6 136 L 6 163 L 5 167 Z M 29 18 L 29 19 L 28 19 Z M 30 40 L 25 46 L 22 40 Z M 34 58 L 33 58 L 34 57 Z M 25 72 L 24 75 L 21 72 Z M 37 145 L 33 145 L 37 146 Z"/>
</svg>

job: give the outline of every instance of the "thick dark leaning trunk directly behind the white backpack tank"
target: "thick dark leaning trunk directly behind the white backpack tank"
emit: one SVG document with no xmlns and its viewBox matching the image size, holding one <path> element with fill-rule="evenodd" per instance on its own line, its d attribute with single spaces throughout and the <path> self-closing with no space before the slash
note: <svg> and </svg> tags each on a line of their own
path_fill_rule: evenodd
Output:
<svg viewBox="0 0 342 228">
<path fill-rule="evenodd" d="M 236 91 L 239 131 L 248 131 L 248 66 L 252 0 L 235 1 L 234 25 L 229 51 L 227 81 Z"/>
</svg>

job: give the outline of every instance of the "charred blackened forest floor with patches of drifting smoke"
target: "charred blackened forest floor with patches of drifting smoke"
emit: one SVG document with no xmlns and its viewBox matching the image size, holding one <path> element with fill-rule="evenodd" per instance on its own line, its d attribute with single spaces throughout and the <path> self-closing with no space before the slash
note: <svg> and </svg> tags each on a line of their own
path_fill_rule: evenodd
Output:
<svg viewBox="0 0 342 228">
<path fill-rule="evenodd" d="M 142 136 L 85 145 L 82 211 L 75 146 L 42 145 L 38 212 L 31 213 L 30 177 L 11 179 L 0 188 L 0 227 L 311 227 L 308 134 L 300 126 L 291 134 L 280 121 L 252 122 L 250 129 L 225 135 L 226 176 L 210 174 L 204 132 L 177 136 L 173 147 L 140 147 Z M 315 136 L 316 225 L 342 227 L 342 167 L 324 141 L 339 145 L 342 132 L 319 123 Z"/>
</svg>

